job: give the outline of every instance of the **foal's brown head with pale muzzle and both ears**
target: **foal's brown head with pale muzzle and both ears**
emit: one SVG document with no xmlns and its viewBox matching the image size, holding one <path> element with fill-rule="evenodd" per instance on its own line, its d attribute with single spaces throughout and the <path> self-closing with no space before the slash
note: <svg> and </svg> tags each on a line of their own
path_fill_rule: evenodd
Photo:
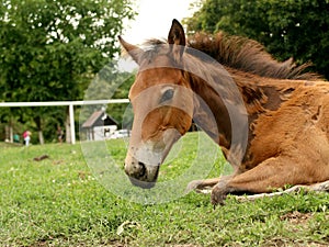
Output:
<svg viewBox="0 0 329 247">
<path fill-rule="evenodd" d="M 182 70 L 185 34 L 174 20 L 166 43 L 141 49 L 120 42 L 139 66 L 129 91 L 134 122 L 125 172 L 133 184 L 151 188 L 172 145 L 192 124 L 193 92 Z"/>
</svg>

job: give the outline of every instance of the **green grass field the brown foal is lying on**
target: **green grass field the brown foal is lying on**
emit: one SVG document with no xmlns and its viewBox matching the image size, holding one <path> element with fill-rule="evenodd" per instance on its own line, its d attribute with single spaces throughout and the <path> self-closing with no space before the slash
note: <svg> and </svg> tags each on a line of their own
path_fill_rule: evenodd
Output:
<svg viewBox="0 0 329 247">
<path fill-rule="evenodd" d="M 186 171 L 195 136 L 160 178 Z M 125 143 L 106 143 L 123 162 Z M 191 146 L 191 150 L 189 150 Z M 329 194 L 309 193 L 240 203 L 229 197 L 215 210 L 209 195 L 191 192 L 168 203 L 139 204 L 105 189 L 81 145 L 0 144 L 0 246 L 328 246 Z M 35 161 L 34 158 L 49 158 Z M 220 157 L 211 171 L 223 165 Z"/>
</svg>

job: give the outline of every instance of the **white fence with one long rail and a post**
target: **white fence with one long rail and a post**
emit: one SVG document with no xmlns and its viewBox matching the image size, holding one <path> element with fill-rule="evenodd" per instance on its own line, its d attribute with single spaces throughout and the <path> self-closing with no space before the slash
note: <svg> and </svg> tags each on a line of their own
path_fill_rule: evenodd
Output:
<svg viewBox="0 0 329 247">
<path fill-rule="evenodd" d="M 0 102 L 0 108 L 69 106 L 71 144 L 76 144 L 75 105 L 129 103 L 128 99 L 53 102 Z"/>
</svg>

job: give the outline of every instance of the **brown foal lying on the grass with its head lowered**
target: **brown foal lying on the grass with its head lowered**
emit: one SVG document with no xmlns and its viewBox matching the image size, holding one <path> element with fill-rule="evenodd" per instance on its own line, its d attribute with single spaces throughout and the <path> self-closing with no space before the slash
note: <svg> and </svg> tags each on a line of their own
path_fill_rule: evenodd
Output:
<svg viewBox="0 0 329 247">
<path fill-rule="evenodd" d="M 329 180 L 329 83 L 304 72 L 308 65 L 279 63 L 259 43 L 223 33 L 196 34 L 188 43 L 175 20 L 168 42 L 151 40 L 144 49 L 120 42 L 139 65 L 125 159 L 133 184 L 155 186 L 160 164 L 192 120 L 235 170 L 189 184 L 213 187 L 214 204 L 227 194 Z"/>
</svg>

